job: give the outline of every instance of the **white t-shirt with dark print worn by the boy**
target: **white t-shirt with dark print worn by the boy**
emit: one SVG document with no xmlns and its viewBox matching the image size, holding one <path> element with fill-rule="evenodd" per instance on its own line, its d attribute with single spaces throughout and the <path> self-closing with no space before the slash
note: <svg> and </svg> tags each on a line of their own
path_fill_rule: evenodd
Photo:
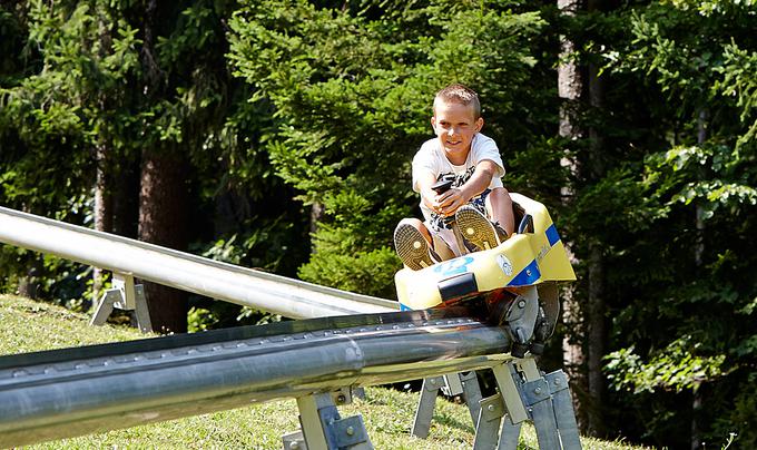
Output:
<svg viewBox="0 0 757 450">
<path fill-rule="evenodd" d="M 465 164 L 461 166 L 455 166 L 450 163 L 444 154 L 444 149 L 439 143 L 439 138 L 429 139 L 421 146 L 417 150 L 415 157 L 413 158 L 413 190 L 420 192 L 417 187 L 417 178 L 423 173 L 431 173 L 434 175 L 436 180 L 443 178 L 452 178 L 452 187 L 460 187 L 465 182 L 468 182 L 473 172 L 475 170 L 476 164 L 482 160 L 489 159 L 497 165 L 497 174 L 492 177 L 489 184 L 489 189 L 474 196 L 470 199 L 469 204 L 474 205 L 480 211 L 485 213 L 484 199 L 489 195 L 489 190 L 495 187 L 502 187 L 502 176 L 504 175 L 504 165 L 502 164 L 502 157 L 500 156 L 500 149 L 497 147 L 494 139 L 476 133 L 471 141 L 471 151 L 468 153 L 468 158 Z M 443 224 L 441 216 L 433 213 L 421 199 L 421 211 L 423 212 L 423 217 L 426 223 L 432 224 L 434 227 L 446 228 Z"/>
</svg>

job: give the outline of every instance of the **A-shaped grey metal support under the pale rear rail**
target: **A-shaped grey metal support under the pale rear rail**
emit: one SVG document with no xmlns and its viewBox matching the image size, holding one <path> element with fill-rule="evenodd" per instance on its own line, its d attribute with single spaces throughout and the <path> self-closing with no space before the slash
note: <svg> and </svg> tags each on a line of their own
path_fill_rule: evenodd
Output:
<svg viewBox="0 0 757 450">
<path fill-rule="evenodd" d="M 89 324 L 102 325 L 115 307 L 124 311 L 134 311 L 137 325 L 142 333 L 153 331 L 145 290 L 141 284 L 134 284 L 134 276 L 114 272 L 112 287 L 102 294 L 100 304 L 97 306 Z"/>
</svg>

